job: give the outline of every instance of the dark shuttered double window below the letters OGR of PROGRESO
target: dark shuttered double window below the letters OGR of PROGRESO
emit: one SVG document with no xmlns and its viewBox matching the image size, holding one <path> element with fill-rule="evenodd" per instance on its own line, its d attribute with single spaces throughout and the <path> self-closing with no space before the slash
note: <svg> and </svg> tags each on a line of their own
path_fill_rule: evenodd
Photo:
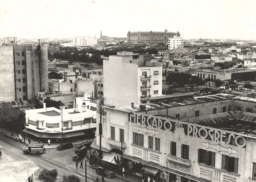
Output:
<svg viewBox="0 0 256 182">
<path fill-rule="evenodd" d="M 198 163 L 215 166 L 215 152 L 198 149 Z"/>
</svg>

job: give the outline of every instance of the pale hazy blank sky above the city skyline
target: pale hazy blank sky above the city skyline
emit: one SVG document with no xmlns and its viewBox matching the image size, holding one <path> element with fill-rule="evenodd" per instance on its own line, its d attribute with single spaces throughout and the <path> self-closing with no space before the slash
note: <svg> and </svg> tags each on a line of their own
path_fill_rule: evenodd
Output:
<svg viewBox="0 0 256 182">
<path fill-rule="evenodd" d="M 0 37 L 43 38 L 128 31 L 256 39 L 256 0 L 0 0 Z"/>
</svg>

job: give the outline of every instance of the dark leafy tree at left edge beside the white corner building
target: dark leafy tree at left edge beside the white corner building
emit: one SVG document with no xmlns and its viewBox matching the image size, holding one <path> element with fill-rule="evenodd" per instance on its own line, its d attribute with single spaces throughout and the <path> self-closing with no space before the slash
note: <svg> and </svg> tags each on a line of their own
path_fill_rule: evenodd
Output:
<svg viewBox="0 0 256 182">
<path fill-rule="evenodd" d="M 25 122 L 25 115 L 15 107 L 0 107 L 0 125 L 12 132 L 22 130 Z"/>
</svg>

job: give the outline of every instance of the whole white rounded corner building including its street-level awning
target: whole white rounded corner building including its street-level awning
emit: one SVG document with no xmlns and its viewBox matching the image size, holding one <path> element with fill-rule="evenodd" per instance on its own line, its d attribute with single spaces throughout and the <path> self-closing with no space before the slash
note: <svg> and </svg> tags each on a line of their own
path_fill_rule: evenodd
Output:
<svg viewBox="0 0 256 182">
<path fill-rule="evenodd" d="M 96 104 L 85 97 L 76 98 L 75 108 L 55 107 L 26 110 L 26 132 L 41 141 L 74 141 L 94 136 Z M 62 112 L 61 112 L 62 111 Z M 62 114 L 61 114 L 62 113 Z M 63 134 L 62 134 L 63 129 Z"/>
</svg>

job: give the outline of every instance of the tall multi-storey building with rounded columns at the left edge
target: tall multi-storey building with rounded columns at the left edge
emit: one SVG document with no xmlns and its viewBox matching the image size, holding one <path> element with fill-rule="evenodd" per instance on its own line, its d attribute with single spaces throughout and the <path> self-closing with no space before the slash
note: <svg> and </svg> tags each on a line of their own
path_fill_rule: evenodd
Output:
<svg viewBox="0 0 256 182">
<path fill-rule="evenodd" d="M 48 90 L 47 46 L 0 46 L 0 101 L 33 99 Z"/>
</svg>

